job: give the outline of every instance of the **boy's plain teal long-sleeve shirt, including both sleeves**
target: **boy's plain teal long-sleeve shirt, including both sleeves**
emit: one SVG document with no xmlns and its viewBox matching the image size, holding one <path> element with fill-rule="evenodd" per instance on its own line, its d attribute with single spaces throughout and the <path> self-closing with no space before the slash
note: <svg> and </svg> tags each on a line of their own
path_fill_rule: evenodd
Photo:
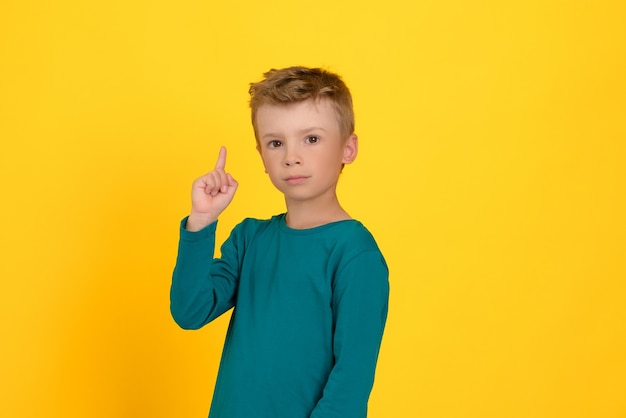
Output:
<svg viewBox="0 0 626 418">
<path fill-rule="evenodd" d="M 366 417 L 389 296 L 368 230 L 246 219 L 214 258 L 217 223 L 189 232 L 185 222 L 173 318 L 198 329 L 234 307 L 209 417 Z"/>
</svg>

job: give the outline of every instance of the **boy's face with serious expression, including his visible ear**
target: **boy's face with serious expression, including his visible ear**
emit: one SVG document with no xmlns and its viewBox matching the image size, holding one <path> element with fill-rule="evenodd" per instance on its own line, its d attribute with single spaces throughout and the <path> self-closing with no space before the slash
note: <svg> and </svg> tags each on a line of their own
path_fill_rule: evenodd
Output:
<svg viewBox="0 0 626 418">
<path fill-rule="evenodd" d="M 326 98 L 263 105 L 256 113 L 256 128 L 265 170 L 287 203 L 334 197 L 342 164 L 356 158 L 357 137 L 341 137 Z"/>
</svg>

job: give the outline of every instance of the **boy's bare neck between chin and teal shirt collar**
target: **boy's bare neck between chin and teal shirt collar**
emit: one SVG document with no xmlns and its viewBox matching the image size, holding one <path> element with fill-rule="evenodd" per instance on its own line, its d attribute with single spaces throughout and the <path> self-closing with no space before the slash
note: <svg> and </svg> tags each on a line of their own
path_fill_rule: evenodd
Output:
<svg viewBox="0 0 626 418">
<path fill-rule="evenodd" d="M 287 226 L 294 229 L 307 229 L 331 222 L 352 219 L 341 207 L 337 196 L 324 202 L 286 201 Z"/>
</svg>

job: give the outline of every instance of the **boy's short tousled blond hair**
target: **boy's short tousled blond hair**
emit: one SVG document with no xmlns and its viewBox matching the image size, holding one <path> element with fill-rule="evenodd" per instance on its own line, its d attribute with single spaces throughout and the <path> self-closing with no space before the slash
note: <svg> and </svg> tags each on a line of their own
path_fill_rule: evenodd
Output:
<svg viewBox="0 0 626 418">
<path fill-rule="evenodd" d="M 341 136 L 354 133 L 354 110 L 352 95 L 341 77 L 322 68 L 288 67 L 271 69 L 264 79 L 250 83 L 250 109 L 252 126 L 258 139 L 256 127 L 257 110 L 265 105 L 281 105 L 307 99 L 328 98 L 335 110 Z"/>
</svg>

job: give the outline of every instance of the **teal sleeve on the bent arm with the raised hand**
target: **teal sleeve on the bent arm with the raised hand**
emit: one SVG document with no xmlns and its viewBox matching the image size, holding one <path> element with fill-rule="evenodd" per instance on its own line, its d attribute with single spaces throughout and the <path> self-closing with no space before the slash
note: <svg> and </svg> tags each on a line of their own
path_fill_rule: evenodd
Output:
<svg viewBox="0 0 626 418">
<path fill-rule="evenodd" d="M 214 258 L 217 222 L 200 231 L 180 224 L 178 256 L 170 288 L 170 312 L 183 329 L 198 329 L 235 304 L 239 263 L 236 233 L 222 245 L 221 258 Z"/>
</svg>

